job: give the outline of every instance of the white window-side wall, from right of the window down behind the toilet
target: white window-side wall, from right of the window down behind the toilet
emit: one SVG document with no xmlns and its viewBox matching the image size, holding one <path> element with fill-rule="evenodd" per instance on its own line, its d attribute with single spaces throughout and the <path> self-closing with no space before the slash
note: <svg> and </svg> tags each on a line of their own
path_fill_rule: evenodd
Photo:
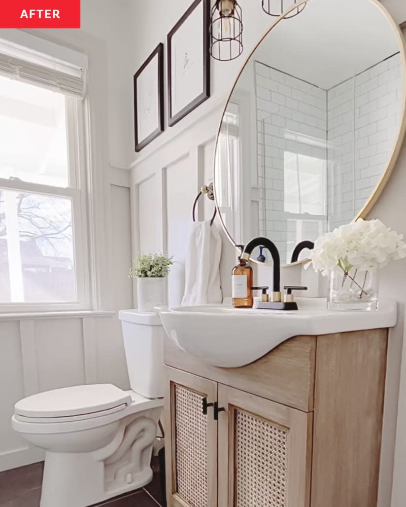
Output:
<svg viewBox="0 0 406 507">
<path fill-rule="evenodd" d="M 11 429 L 16 401 L 42 390 L 82 383 L 112 382 L 128 388 L 116 311 L 131 308 L 130 190 L 132 83 L 127 6 L 115 0 L 82 0 L 80 30 L 32 30 L 89 57 L 89 100 L 95 206 L 97 308 L 52 318 L 0 315 L 0 470 L 42 459 Z M 6 30 L 7 32 L 7 30 Z M 130 148 L 131 147 L 131 148 Z M 113 227 L 114 226 L 114 227 Z"/>
</svg>

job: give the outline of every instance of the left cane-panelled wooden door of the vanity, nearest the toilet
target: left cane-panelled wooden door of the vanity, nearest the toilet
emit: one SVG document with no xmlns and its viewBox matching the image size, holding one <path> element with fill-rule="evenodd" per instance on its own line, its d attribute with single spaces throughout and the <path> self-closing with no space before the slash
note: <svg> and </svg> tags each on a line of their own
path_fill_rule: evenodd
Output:
<svg viewBox="0 0 406 507">
<path fill-rule="evenodd" d="M 217 505 L 217 383 L 166 368 L 168 507 Z"/>
</svg>

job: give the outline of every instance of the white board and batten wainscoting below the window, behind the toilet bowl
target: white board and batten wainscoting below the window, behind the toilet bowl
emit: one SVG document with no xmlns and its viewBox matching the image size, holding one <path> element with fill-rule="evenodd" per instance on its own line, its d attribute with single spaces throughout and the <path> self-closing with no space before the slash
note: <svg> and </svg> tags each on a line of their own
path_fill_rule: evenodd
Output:
<svg viewBox="0 0 406 507">
<path fill-rule="evenodd" d="M 97 347 L 108 339 L 106 331 L 112 327 L 113 316 L 114 312 L 105 316 L 1 317 L 0 470 L 43 459 L 39 449 L 30 449 L 11 428 L 14 404 L 41 391 L 96 382 Z"/>
</svg>

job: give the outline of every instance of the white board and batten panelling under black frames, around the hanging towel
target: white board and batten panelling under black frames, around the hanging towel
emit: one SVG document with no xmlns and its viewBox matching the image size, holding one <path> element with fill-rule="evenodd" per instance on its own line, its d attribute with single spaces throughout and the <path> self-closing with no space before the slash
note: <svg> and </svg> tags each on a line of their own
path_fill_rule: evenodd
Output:
<svg viewBox="0 0 406 507">
<path fill-rule="evenodd" d="M 141 157 L 131 171 L 132 252 L 164 251 L 174 256 L 168 276 L 168 303 L 180 305 L 185 284 L 192 207 L 201 186 L 213 180 L 213 154 L 221 105 L 150 156 Z M 197 220 L 209 220 L 214 203 L 199 199 Z M 213 227 L 219 227 L 215 222 Z M 222 233 L 222 272 L 235 264 L 234 249 Z M 230 293 L 231 279 L 222 287 Z"/>
</svg>

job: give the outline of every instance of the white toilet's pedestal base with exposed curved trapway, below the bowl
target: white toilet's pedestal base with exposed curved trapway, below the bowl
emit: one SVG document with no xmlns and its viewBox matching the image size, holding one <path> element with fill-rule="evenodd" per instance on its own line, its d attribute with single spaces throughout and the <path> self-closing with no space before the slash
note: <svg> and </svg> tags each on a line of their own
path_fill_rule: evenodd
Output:
<svg viewBox="0 0 406 507">
<path fill-rule="evenodd" d="M 40 507 L 88 507 L 150 483 L 160 412 L 124 417 L 113 440 L 94 452 L 47 451 Z"/>
</svg>

